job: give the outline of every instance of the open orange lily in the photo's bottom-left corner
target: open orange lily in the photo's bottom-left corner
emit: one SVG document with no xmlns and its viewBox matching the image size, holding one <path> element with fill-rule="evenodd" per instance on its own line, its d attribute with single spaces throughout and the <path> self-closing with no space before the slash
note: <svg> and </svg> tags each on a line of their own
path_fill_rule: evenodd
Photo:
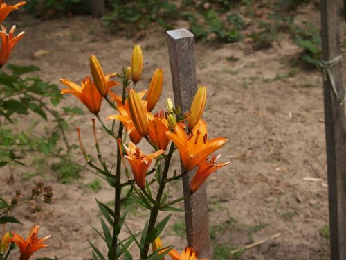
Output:
<svg viewBox="0 0 346 260">
<path fill-rule="evenodd" d="M 39 225 L 35 225 L 28 236 L 28 239 L 24 239 L 19 234 L 12 232 L 12 237 L 8 239 L 9 242 L 14 242 L 18 246 L 21 256 L 20 260 L 28 260 L 35 251 L 42 248 L 47 248 L 48 245 L 42 244 L 44 241 L 49 239 L 51 236 L 45 236 L 42 239 L 37 237 L 39 232 Z"/>
</svg>

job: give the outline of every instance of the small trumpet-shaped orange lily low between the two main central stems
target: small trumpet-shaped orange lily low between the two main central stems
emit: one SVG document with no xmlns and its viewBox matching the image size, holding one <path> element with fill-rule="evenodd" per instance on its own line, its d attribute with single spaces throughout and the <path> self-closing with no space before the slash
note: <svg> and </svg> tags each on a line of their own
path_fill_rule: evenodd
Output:
<svg viewBox="0 0 346 260">
<path fill-rule="evenodd" d="M 129 146 L 125 146 L 127 155 L 124 157 L 129 161 L 131 165 L 132 173 L 134 173 L 134 180 L 140 188 L 145 188 L 145 175 L 152 160 L 165 153 L 164 150 L 158 150 L 150 155 L 143 155 L 143 152 L 136 147 L 134 143 L 129 142 Z"/>
</svg>

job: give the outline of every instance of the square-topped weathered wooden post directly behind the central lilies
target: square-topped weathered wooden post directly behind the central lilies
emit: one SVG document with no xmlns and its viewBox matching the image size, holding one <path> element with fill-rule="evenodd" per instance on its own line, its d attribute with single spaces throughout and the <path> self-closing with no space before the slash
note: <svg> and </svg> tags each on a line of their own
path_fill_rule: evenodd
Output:
<svg viewBox="0 0 346 260">
<path fill-rule="evenodd" d="M 167 35 L 174 103 L 186 112 L 197 92 L 194 35 L 186 29 L 167 31 Z M 203 185 L 190 195 L 189 182 L 193 175 L 194 171 L 183 177 L 188 245 L 199 252 L 199 259 L 211 259 L 206 187 Z"/>
</svg>

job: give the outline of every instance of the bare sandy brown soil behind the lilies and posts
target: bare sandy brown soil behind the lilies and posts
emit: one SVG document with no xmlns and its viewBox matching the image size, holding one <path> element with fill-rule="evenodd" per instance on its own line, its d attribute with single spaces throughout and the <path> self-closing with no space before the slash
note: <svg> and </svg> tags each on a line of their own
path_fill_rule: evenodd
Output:
<svg viewBox="0 0 346 260">
<path fill-rule="evenodd" d="M 319 13 L 315 7 L 305 6 L 299 10 L 297 19 L 304 21 L 308 16 L 309 22 L 318 26 Z M 99 19 L 90 17 L 49 21 L 22 17 L 16 24 L 19 30 L 26 31 L 26 36 L 16 47 L 10 63 L 35 64 L 42 69 L 37 74 L 45 80 L 60 84 L 59 78 L 68 78 L 79 82 L 89 73 L 91 54 L 98 56 L 107 73 L 120 71 L 129 64 L 134 44 L 140 44 L 145 64 L 139 88 L 145 89 L 152 71 L 162 67 L 165 81 L 161 105 L 165 98 L 172 97 L 163 31 L 127 39 L 110 33 Z M 35 56 L 39 49 L 47 50 L 48 55 Z M 211 137 L 228 137 L 228 144 L 221 149 L 221 160 L 231 162 L 208 180 L 214 259 L 227 259 L 222 257 L 225 252 L 228 255 L 231 249 L 277 233 L 281 235 L 245 250 L 239 259 L 329 259 L 322 77 L 319 71 L 300 67 L 295 68 L 293 75 L 280 77 L 292 70 L 289 60 L 295 59 L 299 51 L 287 35 L 279 35 L 273 47 L 265 51 L 253 51 L 246 43 L 196 45 L 198 83 L 208 86 L 203 116 L 208 121 Z M 77 100 L 69 96 L 62 106 L 76 103 Z M 104 105 L 101 115 L 106 117 L 111 113 Z M 88 113 L 73 119 L 69 128 L 71 143 L 77 144 L 76 126 L 82 128 L 84 140 L 92 140 L 90 119 Z M 100 125 L 98 127 L 101 130 Z M 103 136 L 100 146 L 111 161 L 116 144 Z M 92 141 L 86 148 L 95 155 Z M 82 155 L 75 157 L 84 163 Z M 16 166 L 14 171 L 19 175 L 26 169 Z M 72 184 L 58 183 L 49 168 L 47 173 L 51 174 L 44 182 L 53 185 L 53 202 L 39 214 L 21 211 L 19 217 L 25 225 L 15 229 L 27 234 L 30 227 L 39 223 L 42 236 L 53 235 L 50 248 L 37 252 L 35 257 L 90 258 L 87 239 L 104 248 L 89 226 L 100 227 L 94 198 L 111 201 L 111 189 L 104 182 L 97 193 L 86 189 L 83 183 L 95 179 L 89 172 Z M 7 168 L 1 168 L 1 182 L 5 182 L 9 174 Z M 304 177 L 322 181 L 308 181 Z M 32 187 L 42 178 L 15 177 L 13 186 L 4 193 L 10 196 L 10 190 L 15 187 Z M 171 191 L 177 198 L 182 192 L 181 185 L 174 184 Z M 140 230 L 143 220 L 138 218 L 142 219 L 147 213 L 135 209 L 128 222 Z M 175 244 L 179 250 L 185 248 L 183 220 L 183 215 L 174 216 L 162 237 L 163 243 Z"/>
</svg>

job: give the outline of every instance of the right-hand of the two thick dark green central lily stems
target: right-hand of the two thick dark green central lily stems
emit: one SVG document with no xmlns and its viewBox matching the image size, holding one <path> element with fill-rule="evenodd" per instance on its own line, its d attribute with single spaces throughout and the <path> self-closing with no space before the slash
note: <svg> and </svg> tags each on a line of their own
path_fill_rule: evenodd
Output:
<svg viewBox="0 0 346 260">
<path fill-rule="evenodd" d="M 163 196 L 163 191 L 165 190 L 165 184 L 166 184 L 165 180 L 166 180 L 167 175 L 168 175 L 168 169 L 170 168 L 170 161 L 171 161 L 173 152 L 174 152 L 174 144 L 171 143 L 170 151 L 168 152 L 167 159 L 165 161 L 165 168 L 163 169 L 160 187 L 158 187 L 158 192 L 157 192 L 157 196 L 156 196 L 156 204 L 154 205 L 154 207 L 152 208 L 152 212 L 150 213 L 147 234 L 150 234 L 155 228 L 155 223 L 156 223 L 156 219 L 158 216 L 158 211 L 160 211 L 161 198 Z M 149 252 L 149 246 L 150 246 L 149 243 L 145 243 L 144 248 L 143 248 L 143 254 L 141 255 L 141 259 L 147 259 L 147 255 Z"/>
</svg>

